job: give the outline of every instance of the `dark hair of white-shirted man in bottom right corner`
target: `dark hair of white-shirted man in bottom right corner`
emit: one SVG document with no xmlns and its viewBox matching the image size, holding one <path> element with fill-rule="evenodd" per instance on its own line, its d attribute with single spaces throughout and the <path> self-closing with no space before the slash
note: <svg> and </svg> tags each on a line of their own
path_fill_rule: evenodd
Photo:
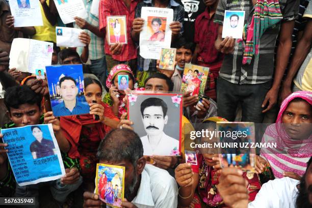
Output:
<svg viewBox="0 0 312 208">
<path fill-rule="evenodd" d="M 299 183 L 299 193 L 296 198 L 296 207 L 297 208 L 309 208 L 311 207 L 311 203 L 309 202 L 309 194 L 308 194 L 308 187 L 306 187 L 305 177 L 308 174 L 308 168 L 312 163 L 312 157 L 310 157 L 309 161 L 307 162 L 306 171 L 302 176 L 300 183 Z"/>
</svg>

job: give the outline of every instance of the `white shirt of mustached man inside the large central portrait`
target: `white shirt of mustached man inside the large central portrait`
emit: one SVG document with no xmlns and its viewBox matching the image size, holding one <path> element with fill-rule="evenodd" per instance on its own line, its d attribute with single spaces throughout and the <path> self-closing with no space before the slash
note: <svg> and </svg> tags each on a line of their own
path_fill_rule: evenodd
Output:
<svg viewBox="0 0 312 208">
<path fill-rule="evenodd" d="M 149 143 L 148 136 L 142 136 L 141 141 L 143 144 L 144 153 L 143 155 L 163 155 L 163 156 L 170 156 L 171 151 L 176 148 L 179 150 L 179 141 L 175 140 L 174 138 L 168 136 L 163 132 L 162 138 L 160 139 L 157 147 L 152 148 Z M 154 149 L 154 151 L 153 151 Z"/>
</svg>

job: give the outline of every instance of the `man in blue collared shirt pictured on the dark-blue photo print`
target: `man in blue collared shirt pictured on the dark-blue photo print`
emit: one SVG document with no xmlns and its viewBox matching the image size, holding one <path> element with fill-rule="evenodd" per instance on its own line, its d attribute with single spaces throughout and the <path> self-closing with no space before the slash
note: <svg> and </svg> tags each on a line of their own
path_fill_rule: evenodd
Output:
<svg viewBox="0 0 312 208">
<path fill-rule="evenodd" d="M 62 77 L 60 88 L 63 102 L 53 107 L 55 116 L 89 113 L 90 107 L 77 101 L 78 88 L 72 77 Z"/>
</svg>

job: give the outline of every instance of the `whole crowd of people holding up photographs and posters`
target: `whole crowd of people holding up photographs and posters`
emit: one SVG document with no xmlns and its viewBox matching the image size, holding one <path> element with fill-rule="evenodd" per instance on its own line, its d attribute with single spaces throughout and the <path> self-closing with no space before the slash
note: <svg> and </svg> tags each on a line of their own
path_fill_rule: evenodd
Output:
<svg viewBox="0 0 312 208">
<path fill-rule="evenodd" d="M 0 127 L 51 124 L 66 172 L 57 180 L 19 186 L 7 156 L 10 144 L 0 134 L 0 197 L 35 197 L 34 207 L 101 207 L 94 181 L 96 164 L 103 163 L 125 167 L 123 207 L 312 207 L 310 1 L 100 0 L 98 17 L 91 13 L 93 1 L 82 1 L 85 19 L 75 17 L 64 25 L 55 1 L 40 0 L 43 26 L 17 28 L 9 1 L 0 0 Z M 21 5 L 25 8 L 29 2 Z M 146 21 L 141 18 L 142 7 L 173 10 L 172 71 L 160 69 L 160 60 L 140 56 Z M 226 10 L 245 11 L 241 39 L 222 38 Z M 118 41 L 117 19 L 117 42 L 108 43 L 108 16 L 125 16 L 126 44 Z M 238 21 L 239 16 L 231 19 Z M 150 38 L 162 41 L 161 19 L 154 18 L 151 24 L 158 31 Z M 86 46 L 57 47 L 56 26 L 83 29 L 79 39 Z M 43 75 L 37 78 L 10 67 L 11 44 L 19 37 L 53 43 L 52 65 L 83 65 L 89 114 L 54 116 Z M 203 98 L 199 88 L 183 93 L 181 155 L 146 157 L 134 121 L 127 119 L 126 94 L 180 91 L 187 63 L 210 70 Z M 123 82 L 118 76 L 124 76 Z M 127 89 L 120 89 L 125 83 Z M 202 105 L 196 105 L 199 100 Z M 186 163 L 187 131 L 200 123 L 214 130 L 218 121 L 271 123 L 262 142 L 277 147 L 261 149 L 255 173 L 221 168 L 218 154 L 212 153 L 198 153 L 197 165 Z M 37 131 L 40 127 L 33 126 L 33 134 Z M 36 154 L 40 149 L 54 149 L 42 141 L 32 144 L 38 150 L 32 151 L 34 159 L 42 156 Z M 43 197 L 45 192 L 49 200 Z"/>
</svg>

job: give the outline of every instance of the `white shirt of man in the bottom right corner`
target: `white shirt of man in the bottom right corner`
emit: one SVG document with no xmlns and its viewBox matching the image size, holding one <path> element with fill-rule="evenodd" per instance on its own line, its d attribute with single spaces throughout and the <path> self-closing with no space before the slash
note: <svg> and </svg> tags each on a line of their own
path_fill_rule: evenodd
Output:
<svg viewBox="0 0 312 208">
<path fill-rule="evenodd" d="M 263 184 L 248 208 L 295 208 L 299 180 L 277 178 Z"/>
</svg>

